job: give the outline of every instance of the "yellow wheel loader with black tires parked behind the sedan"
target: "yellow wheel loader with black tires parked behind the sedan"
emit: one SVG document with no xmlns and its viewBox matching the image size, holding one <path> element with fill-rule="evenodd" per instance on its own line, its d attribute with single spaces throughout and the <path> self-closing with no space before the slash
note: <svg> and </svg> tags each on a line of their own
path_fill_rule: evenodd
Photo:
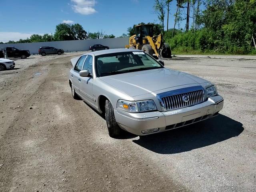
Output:
<svg viewBox="0 0 256 192">
<path fill-rule="evenodd" d="M 162 34 L 153 35 L 153 24 L 141 24 L 135 26 L 135 35 L 129 38 L 129 45 L 125 48 L 139 49 L 159 58 L 172 58 L 171 49 L 167 43 L 163 42 Z"/>
</svg>

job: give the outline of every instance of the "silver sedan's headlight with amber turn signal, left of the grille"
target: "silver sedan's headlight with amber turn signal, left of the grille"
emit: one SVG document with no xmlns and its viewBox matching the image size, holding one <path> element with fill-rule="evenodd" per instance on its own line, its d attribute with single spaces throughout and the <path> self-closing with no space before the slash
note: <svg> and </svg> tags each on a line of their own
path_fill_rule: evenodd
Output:
<svg viewBox="0 0 256 192">
<path fill-rule="evenodd" d="M 117 108 L 127 112 L 138 113 L 138 112 L 156 110 L 156 104 L 154 103 L 153 100 L 136 101 L 136 102 L 118 100 Z"/>
</svg>

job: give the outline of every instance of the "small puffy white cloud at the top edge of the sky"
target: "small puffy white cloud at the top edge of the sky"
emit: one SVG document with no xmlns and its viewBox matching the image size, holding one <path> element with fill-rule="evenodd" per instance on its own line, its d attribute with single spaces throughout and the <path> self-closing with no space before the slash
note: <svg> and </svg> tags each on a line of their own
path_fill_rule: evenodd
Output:
<svg viewBox="0 0 256 192">
<path fill-rule="evenodd" d="M 90 15 L 94 14 L 97 11 L 93 8 L 96 4 L 95 0 L 71 0 L 74 4 L 72 4 L 72 9 L 76 13 L 80 13 L 82 15 Z"/>
</svg>

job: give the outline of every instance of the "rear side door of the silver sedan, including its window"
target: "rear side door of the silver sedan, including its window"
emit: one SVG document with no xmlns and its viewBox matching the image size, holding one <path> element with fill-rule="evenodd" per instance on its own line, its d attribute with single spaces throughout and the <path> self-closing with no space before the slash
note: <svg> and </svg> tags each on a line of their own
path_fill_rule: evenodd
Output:
<svg viewBox="0 0 256 192">
<path fill-rule="evenodd" d="M 79 75 L 79 72 L 82 70 L 82 66 L 84 64 L 84 60 L 86 58 L 86 55 L 81 56 L 78 61 L 76 62 L 76 65 L 73 70 L 71 70 L 71 78 L 72 78 L 72 84 L 74 86 L 74 89 L 76 93 L 80 96 L 79 93 L 79 86 L 81 82 L 81 77 Z"/>
</svg>

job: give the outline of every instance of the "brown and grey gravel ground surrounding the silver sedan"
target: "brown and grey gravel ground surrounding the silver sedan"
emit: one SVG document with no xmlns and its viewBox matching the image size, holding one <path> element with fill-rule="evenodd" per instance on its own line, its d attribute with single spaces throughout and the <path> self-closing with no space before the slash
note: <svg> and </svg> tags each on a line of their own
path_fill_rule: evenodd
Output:
<svg viewBox="0 0 256 192">
<path fill-rule="evenodd" d="M 215 83 L 220 115 L 116 140 L 71 96 L 78 54 L 18 59 L 20 69 L 0 72 L 0 191 L 256 191 L 256 60 L 165 61 Z"/>
</svg>

